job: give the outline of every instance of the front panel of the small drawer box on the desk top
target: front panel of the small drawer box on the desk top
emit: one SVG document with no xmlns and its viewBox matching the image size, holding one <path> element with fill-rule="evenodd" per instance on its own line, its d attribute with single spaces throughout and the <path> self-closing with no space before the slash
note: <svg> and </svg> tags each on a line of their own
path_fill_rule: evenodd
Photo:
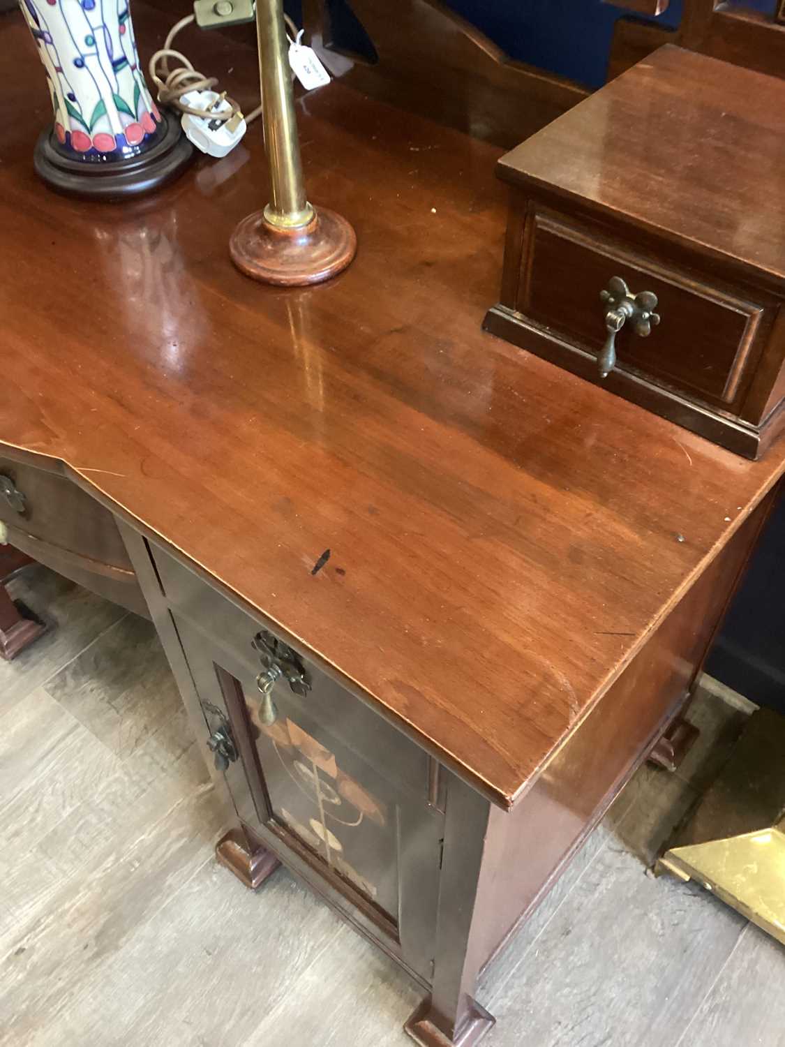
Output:
<svg viewBox="0 0 785 1047">
<path fill-rule="evenodd" d="M 615 339 L 619 364 L 726 407 L 740 399 L 772 305 L 744 300 L 550 214 L 529 223 L 519 312 L 597 354 L 606 337 L 600 292 L 621 276 L 632 294 L 656 294 L 660 322 L 648 337 L 625 325 Z"/>
</svg>

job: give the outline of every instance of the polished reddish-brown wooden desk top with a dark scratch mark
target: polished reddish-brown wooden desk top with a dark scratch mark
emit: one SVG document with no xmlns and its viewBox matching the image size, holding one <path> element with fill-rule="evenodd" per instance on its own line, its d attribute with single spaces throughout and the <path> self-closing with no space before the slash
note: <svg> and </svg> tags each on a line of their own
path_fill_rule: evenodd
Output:
<svg viewBox="0 0 785 1047">
<path fill-rule="evenodd" d="M 141 2 L 134 19 L 144 52 L 166 22 Z M 264 184 L 259 128 L 147 202 L 71 202 L 31 171 L 48 98 L 21 19 L 0 46 L 0 440 L 66 463 L 511 805 L 783 449 L 740 461 L 480 331 L 496 149 L 340 83 L 309 95 L 309 194 L 354 224 L 358 257 L 322 287 L 265 288 L 227 247 Z M 253 52 L 210 46 L 251 96 Z M 767 257 L 763 226 L 757 243 Z"/>
</svg>

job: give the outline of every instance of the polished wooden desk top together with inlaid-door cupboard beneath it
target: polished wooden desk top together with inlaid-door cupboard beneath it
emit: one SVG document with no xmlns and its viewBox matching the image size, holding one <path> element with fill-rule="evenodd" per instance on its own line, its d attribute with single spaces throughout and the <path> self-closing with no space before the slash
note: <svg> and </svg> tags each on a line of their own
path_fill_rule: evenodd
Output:
<svg viewBox="0 0 785 1047">
<path fill-rule="evenodd" d="M 423 986 L 410 1034 L 469 1047 L 478 973 L 688 700 L 785 447 L 744 461 L 481 331 L 497 148 L 308 96 L 309 194 L 359 253 L 266 288 L 227 251 L 260 133 L 148 200 L 57 197 L 19 19 L 0 46 L 0 456 L 47 474 L 37 540 L 86 555 L 63 499 L 119 529 L 103 562 L 234 811 L 221 861 L 250 886 L 284 862 Z M 210 46 L 251 98 L 253 51 Z"/>
</svg>

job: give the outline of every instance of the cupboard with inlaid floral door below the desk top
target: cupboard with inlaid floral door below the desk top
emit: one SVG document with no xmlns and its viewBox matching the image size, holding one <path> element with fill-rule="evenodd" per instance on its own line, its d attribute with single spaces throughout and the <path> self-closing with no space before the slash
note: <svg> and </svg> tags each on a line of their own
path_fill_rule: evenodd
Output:
<svg viewBox="0 0 785 1047">
<path fill-rule="evenodd" d="M 511 809 L 215 582 L 122 525 L 198 736 L 242 827 L 219 857 L 249 886 L 264 878 L 254 868 L 274 868 L 270 859 L 288 865 L 429 994 L 407 1025 L 413 1039 L 476 1043 L 493 1022 L 474 999 L 480 972 L 678 720 L 773 497 Z M 271 664 L 293 684 L 284 672 L 266 698 L 260 684 Z"/>
</svg>

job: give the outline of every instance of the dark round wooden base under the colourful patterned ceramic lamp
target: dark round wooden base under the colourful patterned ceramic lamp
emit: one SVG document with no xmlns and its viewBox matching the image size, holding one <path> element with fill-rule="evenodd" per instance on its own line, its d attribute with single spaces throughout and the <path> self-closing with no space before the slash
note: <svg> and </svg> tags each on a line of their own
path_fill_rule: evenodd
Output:
<svg viewBox="0 0 785 1047">
<path fill-rule="evenodd" d="M 152 193 L 177 178 L 194 159 L 194 147 L 183 134 L 180 121 L 161 115 L 164 133 L 151 149 L 130 159 L 106 163 L 64 156 L 57 148 L 52 129 L 47 128 L 36 143 L 36 173 L 50 188 L 68 196 L 126 200 Z"/>
</svg>

